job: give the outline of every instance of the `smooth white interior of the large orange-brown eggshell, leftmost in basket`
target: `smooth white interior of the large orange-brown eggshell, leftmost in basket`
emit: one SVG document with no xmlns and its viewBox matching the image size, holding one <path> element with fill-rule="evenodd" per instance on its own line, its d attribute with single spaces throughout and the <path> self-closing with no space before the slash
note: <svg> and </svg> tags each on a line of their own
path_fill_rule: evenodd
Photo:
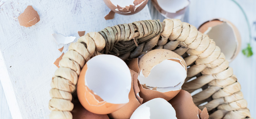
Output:
<svg viewBox="0 0 256 119">
<path fill-rule="evenodd" d="M 131 73 L 123 60 L 114 55 L 97 55 L 87 63 L 85 85 L 112 104 L 129 102 Z"/>
</svg>

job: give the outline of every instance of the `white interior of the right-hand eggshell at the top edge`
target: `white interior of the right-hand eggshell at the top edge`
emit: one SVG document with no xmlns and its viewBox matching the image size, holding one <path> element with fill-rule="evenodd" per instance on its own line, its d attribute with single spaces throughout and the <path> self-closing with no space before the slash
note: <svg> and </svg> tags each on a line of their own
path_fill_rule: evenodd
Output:
<svg viewBox="0 0 256 119">
<path fill-rule="evenodd" d="M 188 0 L 157 0 L 158 5 L 166 12 L 176 13 L 189 5 Z"/>
</svg>

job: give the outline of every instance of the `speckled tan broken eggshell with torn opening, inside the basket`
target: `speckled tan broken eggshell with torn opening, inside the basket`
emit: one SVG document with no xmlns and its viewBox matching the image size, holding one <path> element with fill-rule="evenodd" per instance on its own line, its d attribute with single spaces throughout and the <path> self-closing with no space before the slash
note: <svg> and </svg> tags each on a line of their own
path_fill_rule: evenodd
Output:
<svg viewBox="0 0 256 119">
<path fill-rule="evenodd" d="M 181 90 L 187 77 L 183 58 L 166 49 L 156 49 L 134 58 L 128 67 L 139 73 L 139 96 L 143 103 L 154 98 L 171 100 Z"/>
</svg>

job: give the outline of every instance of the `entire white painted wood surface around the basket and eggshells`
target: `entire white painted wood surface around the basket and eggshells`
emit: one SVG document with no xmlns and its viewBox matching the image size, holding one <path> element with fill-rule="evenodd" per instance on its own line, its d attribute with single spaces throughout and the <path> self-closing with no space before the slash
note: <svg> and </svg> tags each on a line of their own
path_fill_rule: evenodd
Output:
<svg viewBox="0 0 256 119">
<path fill-rule="evenodd" d="M 225 18 L 237 26 L 242 37 L 242 48 L 249 42 L 245 18 L 231 0 L 190 0 L 184 22 L 199 27 L 204 21 Z M 244 8 L 250 25 L 256 21 L 256 1 L 237 0 Z M 40 21 L 30 28 L 19 26 L 17 17 L 26 6 L 32 5 L 40 15 Z M 148 9 L 149 8 L 149 9 Z M 151 4 L 132 16 L 115 15 L 113 20 L 105 20 L 109 9 L 101 0 L 24 1 L 10 0 L 0 6 L 0 119 L 44 119 L 48 118 L 48 101 L 51 77 L 57 69 L 53 62 L 61 55 L 51 34 L 79 37 L 77 31 L 99 31 L 119 23 L 130 23 L 162 17 Z M 151 13 L 151 15 L 150 15 Z M 255 36 L 255 29 L 252 33 Z M 76 40 L 75 40 L 76 41 Z M 256 53 L 255 40 L 252 42 Z M 64 45 L 64 52 L 68 45 Z M 230 63 L 241 84 L 244 98 L 252 117 L 256 114 L 256 55 L 247 58 L 241 52 Z M 1 85 L 0 85 L 1 86 Z M 4 93 L 3 93 L 4 91 Z M 4 95 L 5 94 L 5 95 Z M 6 99 L 5 99 L 6 97 Z M 8 102 L 10 111 L 8 109 Z M 17 113 L 15 111 L 19 111 Z M 21 116 L 22 114 L 22 116 Z"/>
</svg>

